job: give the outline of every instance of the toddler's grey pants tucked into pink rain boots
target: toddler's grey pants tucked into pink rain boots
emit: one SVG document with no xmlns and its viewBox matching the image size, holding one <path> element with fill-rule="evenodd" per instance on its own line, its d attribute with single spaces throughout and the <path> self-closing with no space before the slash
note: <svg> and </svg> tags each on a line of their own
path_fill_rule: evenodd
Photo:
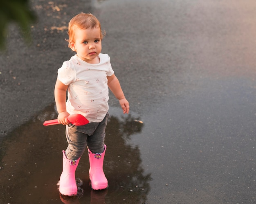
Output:
<svg viewBox="0 0 256 204">
<path fill-rule="evenodd" d="M 67 149 L 66 156 L 70 160 L 79 159 L 88 147 L 93 154 L 104 151 L 105 129 L 109 113 L 100 123 L 88 123 L 75 126 L 66 125 Z"/>
</svg>

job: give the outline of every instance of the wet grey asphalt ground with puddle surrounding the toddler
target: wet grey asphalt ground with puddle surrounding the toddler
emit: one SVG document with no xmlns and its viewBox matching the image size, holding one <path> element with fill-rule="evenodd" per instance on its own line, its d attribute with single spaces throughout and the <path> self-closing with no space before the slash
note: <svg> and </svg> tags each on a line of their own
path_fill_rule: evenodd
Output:
<svg viewBox="0 0 256 204">
<path fill-rule="evenodd" d="M 253 0 L 34 0 L 32 46 L 15 28 L 0 56 L 3 121 L 0 203 L 256 203 L 256 2 Z M 88 156 L 81 197 L 59 195 L 66 148 L 56 118 L 56 70 L 73 53 L 65 26 L 91 12 L 106 30 L 103 53 L 130 102 L 110 94 L 104 171 L 92 191 Z"/>
</svg>

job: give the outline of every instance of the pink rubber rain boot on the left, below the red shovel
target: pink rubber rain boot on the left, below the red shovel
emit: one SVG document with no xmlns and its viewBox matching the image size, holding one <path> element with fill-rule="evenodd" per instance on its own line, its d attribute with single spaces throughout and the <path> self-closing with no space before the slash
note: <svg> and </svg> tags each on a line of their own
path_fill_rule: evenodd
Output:
<svg viewBox="0 0 256 204">
<path fill-rule="evenodd" d="M 60 178 L 60 193 L 62 195 L 76 195 L 77 194 L 77 186 L 76 186 L 76 178 L 75 171 L 76 167 L 79 163 L 79 159 L 77 160 L 69 160 L 66 157 L 65 151 L 63 150 L 63 170 Z"/>
</svg>

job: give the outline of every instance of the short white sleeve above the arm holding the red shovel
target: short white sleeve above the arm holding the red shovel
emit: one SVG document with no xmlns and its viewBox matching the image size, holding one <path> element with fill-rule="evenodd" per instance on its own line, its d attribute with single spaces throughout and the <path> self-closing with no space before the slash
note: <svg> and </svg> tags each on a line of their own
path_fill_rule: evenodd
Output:
<svg viewBox="0 0 256 204">
<path fill-rule="evenodd" d="M 64 61 L 61 68 L 58 69 L 58 80 L 63 84 L 69 85 L 76 80 L 76 71 L 72 63 Z"/>
</svg>

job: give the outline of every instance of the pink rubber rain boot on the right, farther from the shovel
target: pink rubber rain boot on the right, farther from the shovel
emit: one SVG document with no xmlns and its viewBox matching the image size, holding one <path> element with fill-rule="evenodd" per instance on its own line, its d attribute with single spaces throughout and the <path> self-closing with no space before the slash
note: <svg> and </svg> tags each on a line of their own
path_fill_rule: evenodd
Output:
<svg viewBox="0 0 256 204">
<path fill-rule="evenodd" d="M 88 149 L 90 169 L 89 175 L 91 180 L 91 187 L 94 190 L 101 190 L 108 188 L 108 180 L 103 172 L 103 161 L 105 156 L 105 151 L 107 146 L 104 145 L 103 153 L 92 154 L 90 149 Z"/>
</svg>

